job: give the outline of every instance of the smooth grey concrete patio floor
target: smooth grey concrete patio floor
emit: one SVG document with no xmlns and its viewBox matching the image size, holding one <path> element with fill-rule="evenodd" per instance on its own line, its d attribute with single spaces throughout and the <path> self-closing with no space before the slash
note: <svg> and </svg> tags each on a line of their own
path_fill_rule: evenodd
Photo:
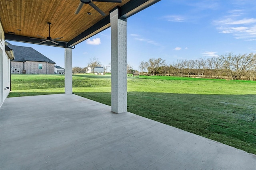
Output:
<svg viewBox="0 0 256 170">
<path fill-rule="evenodd" d="M 7 98 L 0 169 L 253 170 L 256 155 L 74 94 Z"/>
</svg>

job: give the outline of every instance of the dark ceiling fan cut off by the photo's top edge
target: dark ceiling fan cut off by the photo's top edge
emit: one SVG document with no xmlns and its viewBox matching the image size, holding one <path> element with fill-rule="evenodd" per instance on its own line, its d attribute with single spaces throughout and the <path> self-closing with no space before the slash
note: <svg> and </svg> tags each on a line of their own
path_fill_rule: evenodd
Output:
<svg viewBox="0 0 256 170">
<path fill-rule="evenodd" d="M 102 16 L 106 16 L 106 14 L 98 8 L 94 3 L 92 2 L 117 2 L 117 3 L 122 3 L 122 0 L 80 0 L 80 4 L 76 8 L 75 14 L 78 14 L 79 11 L 81 10 L 82 6 L 84 4 L 89 4 L 92 8 L 94 8 L 98 13 L 100 13 Z"/>
</svg>

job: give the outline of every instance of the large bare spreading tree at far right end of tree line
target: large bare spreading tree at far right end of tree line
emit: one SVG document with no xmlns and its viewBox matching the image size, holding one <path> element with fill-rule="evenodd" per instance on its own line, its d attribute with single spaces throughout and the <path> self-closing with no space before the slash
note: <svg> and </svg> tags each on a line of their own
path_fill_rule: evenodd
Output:
<svg viewBox="0 0 256 170">
<path fill-rule="evenodd" d="M 223 66 L 229 70 L 232 80 L 241 80 L 246 71 L 250 70 L 256 64 L 256 54 L 250 53 L 249 55 L 222 55 Z"/>
</svg>

